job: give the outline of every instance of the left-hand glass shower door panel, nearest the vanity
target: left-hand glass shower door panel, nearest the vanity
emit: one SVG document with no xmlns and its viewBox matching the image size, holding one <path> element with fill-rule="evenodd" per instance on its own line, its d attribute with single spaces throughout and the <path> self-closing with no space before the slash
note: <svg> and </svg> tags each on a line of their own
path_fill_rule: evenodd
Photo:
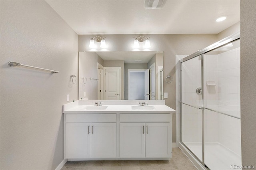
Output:
<svg viewBox="0 0 256 170">
<path fill-rule="evenodd" d="M 181 63 L 181 141 L 203 162 L 201 55 Z"/>
</svg>

